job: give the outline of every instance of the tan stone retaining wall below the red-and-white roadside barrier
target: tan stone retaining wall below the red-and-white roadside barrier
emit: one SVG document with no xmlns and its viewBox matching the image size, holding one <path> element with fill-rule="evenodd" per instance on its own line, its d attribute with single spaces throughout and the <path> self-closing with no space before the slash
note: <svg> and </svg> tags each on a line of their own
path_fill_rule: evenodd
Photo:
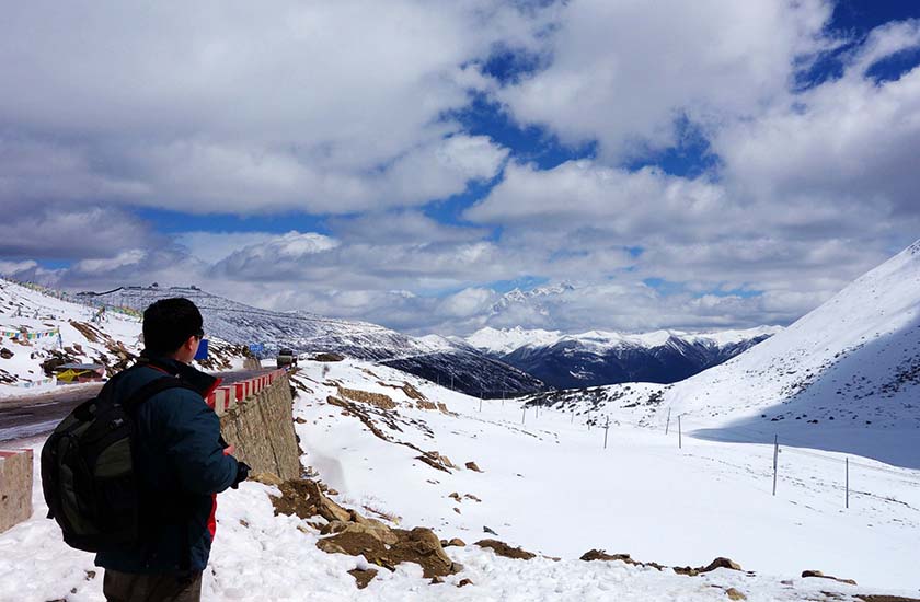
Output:
<svg viewBox="0 0 920 602">
<path fill-rule="evenodd" d="M 262 383 L 265 382 L 263 378 Z M 249 391 L 242 401 L 218 412 L 223 438 L 237 448 L 233 455 L 252 466 L 253 474 L 300 477 L 300 447 L 294 432 L 294 401 L 287 373 L 279 371 L 267 386 Z"/>
</svg>

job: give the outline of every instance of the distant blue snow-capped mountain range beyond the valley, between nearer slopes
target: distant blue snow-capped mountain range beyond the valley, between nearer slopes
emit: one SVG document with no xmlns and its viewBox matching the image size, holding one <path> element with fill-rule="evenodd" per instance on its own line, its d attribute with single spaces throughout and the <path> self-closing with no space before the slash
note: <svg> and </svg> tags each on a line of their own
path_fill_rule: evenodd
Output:
<svg viewBox="0 0 920 602">
<path fill-rule="evenodd" d="M 671 383 L 717 366 L 766 340 L 779 326 L 722 333 L 656 331 L 623 335 L 591 331 L 483 328 L 467 343 L 559 389 L 623 382 Z"/>
</svg>

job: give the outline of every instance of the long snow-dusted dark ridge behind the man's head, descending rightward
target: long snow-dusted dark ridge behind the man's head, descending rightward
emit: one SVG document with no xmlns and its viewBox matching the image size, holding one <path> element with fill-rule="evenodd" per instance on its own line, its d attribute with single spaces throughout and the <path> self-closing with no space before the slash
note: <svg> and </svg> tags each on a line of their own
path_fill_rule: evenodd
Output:
<svg viewBox="0 0 920 602">
<path fill-rule="evenodd" d="M 185 297 L 205 319 L 205 331 L 238 344 L 263 344 L 266 352 L 289 347 L 299 352 L 336 352 L 412 372 L 455 389 L 517 394 L 543 384 L 517 368 L 467 345 L 441 337 L 414 338 L 377 324 L 325 317 L 308 312 L 263 310 L 203 291 L 197 287 L 123 287 L 78 297 L 96 303 L 143 310 L 158 299 Z"/>
</svg>

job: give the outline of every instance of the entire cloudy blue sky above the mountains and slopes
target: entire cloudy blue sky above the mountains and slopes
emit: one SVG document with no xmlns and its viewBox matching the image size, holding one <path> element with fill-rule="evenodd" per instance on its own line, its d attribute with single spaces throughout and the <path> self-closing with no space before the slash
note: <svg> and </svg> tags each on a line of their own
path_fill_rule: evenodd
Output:
<svg viewBox="0 0 920 602">
<path fill-rule="evenodd" d="M 909 0 L 9 3 L 0 274 L 411 334 L 789 324 L 920 235 Z"/>
</svg>

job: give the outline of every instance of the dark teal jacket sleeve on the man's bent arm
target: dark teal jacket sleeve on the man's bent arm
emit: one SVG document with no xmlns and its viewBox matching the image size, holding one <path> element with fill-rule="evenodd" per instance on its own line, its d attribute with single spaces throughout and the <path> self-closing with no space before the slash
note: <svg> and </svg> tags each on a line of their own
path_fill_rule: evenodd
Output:
<svg viewBox="0 0 920 602">
<path fill-rule="evenodd" d="M 237 477 L 237 459 L 223 454 L 220 420 L 199 396 L 172 390 L 162 429 L 166 458 L 182 488 L 193 494 L 219 494 Z"/>
</svg>

